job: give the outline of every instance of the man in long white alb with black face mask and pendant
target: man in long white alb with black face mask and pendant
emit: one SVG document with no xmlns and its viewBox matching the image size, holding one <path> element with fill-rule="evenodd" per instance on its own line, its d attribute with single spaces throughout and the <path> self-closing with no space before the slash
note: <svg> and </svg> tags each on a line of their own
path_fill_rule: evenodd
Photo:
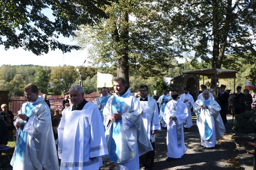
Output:
<svg viewBox="0 0 256 170">
<path fill-rule="evenodd" d="M 184 142 L 183 122 L 187 119 L 188 111 L 185 103 L 178 98 L 179 90 L 171 90 L 172 101 L 166 104 L 163 119 L 167 123 L 167 161 L 181 158 L 187 151 Z"/>
</svg>

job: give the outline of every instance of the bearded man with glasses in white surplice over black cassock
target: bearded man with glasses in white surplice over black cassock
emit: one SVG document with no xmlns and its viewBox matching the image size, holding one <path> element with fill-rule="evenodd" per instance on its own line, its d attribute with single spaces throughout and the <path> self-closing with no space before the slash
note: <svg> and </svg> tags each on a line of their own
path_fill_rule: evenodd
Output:
<svg viewBox="0 0 256 170">
<path fill-rule="evenodd" d="M 147 152 L 144 155 L 140 156 L 140 167 L 144 169 L 152 169 L 154 166 L 154 157 L 155 157 L 155 133 L 157 130 L 161 130 L 158 107 L 155 99 L 148 96 L 148 87 L 147 85 L 140 86 L 140 97 L 138 97 L 140 106 L 142 109 L 142 119 L 144 127 L 147 131 L 147 136 L 151 141 L 153 151 Z"/>
</svg>

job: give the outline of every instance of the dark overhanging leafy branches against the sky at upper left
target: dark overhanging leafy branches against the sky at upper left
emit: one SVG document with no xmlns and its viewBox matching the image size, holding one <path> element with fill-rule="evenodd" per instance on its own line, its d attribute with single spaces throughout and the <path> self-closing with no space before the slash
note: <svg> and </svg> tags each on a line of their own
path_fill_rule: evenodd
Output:
<svg viewBox="0 0 256 170">
<path fill-rule="evenodd" d="M 95 25 L 107 18 L 102 10 L 108 0 L 0 0 L 0 45 L 5 49 L 22 47 L 36 55 L 49 49 L 70 52 L 79 49 L 57 41 L 60 34 L 74 36 L 81 24 Z M 52 20 L 45 11 L 51 11 Z"/>
</svg>

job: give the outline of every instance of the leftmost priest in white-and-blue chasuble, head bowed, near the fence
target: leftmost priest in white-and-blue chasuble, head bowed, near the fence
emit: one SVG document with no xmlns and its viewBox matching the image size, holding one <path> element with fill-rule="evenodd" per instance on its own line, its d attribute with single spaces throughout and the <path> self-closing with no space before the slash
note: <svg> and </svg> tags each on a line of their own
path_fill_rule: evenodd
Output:
<svg viewBox="0 0 256 170">
<path fill-rule="evenodd" d="M 25 86 L 27 102 L 13 122 L 17 128 L 17 142 L 10 163 L 14 170 L 59 169 L 50 109 L 38 93 L 35 84 Z"/>
</svg>

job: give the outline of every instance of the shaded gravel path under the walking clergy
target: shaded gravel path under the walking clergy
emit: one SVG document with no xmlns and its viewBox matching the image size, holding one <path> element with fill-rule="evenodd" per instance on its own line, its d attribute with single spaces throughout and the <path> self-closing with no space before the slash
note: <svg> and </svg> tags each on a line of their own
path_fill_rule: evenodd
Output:
<svg viewBox="0 0 256 170">
<path fill-rule="evenodd" d="M 167 158 L 166 134 L 167 129 L 162 129 L 156 133 L 155 161 L 153 170 L 217 170 L 217 169 L 243 169 L 240 167 L 236 154 L 236 143 L 231 139 L 232 115 L 227 116 L 228 123 L 225 124 L 226 133 L 223 137 L 217 138 L 214 149 L 202 148 L 196 120 L 193 126 L 184 132 L 187 152 L 180 159 L 165 161 Z M 115 164 L 103 159 L 101 169 L 116 169 Z M 141 168 L 143 169 L 143 168 Z"/>
</svg>

